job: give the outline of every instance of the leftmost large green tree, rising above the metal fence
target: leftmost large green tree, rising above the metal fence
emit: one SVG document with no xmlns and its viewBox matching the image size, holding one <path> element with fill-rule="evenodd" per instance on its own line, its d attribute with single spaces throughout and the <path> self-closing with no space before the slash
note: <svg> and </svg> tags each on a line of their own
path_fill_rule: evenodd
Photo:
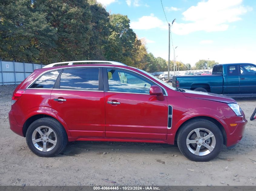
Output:
<svg viewBox="0 0 256 191">
<path fill-rule="evenodd" d="M 55 47 L 56 29 L 46 13 L 29 0 L 0 2 L 0 56 L 6 60 L 39 62 L 40 52 Z"/>
</svg>

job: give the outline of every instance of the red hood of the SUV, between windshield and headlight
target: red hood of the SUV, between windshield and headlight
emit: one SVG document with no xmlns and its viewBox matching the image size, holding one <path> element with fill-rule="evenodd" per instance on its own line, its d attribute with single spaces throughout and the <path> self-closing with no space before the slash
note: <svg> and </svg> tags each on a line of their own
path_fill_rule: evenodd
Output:
<svg viewBox="0 0 256 191">
<path fill-rule="evenodd" d="M 185 90 L 185 91 L 186 92 L 182 92 L 182 94 L 190 98 L 218 101 L 222 103 L 237 103 L 233 98 L 224 96 L 224 95 L 212 94 L 212 93 L 202 92 L 202 91 L 192 91 L 192 90 Z"/>
</svg>

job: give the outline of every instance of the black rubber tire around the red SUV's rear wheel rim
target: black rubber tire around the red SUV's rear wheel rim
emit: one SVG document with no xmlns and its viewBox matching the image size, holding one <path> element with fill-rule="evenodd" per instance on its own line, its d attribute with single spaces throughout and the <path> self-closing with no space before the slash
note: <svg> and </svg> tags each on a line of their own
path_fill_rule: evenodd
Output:
<svg viewBox="0 0 256 191">
<path fill-rule="evenodd" d="M 35 145 L 32 142 L 33 132 L 35 131 L 35 129 L 41 126 L 46 126 L 51 128 L 54 131 L 53 133 L 55 133 L 54 136 L 56 135 L 56 139 L 55 139 L 57 140 L 56 144 L 54 148 L 50 151 L 40 151 L 35 147 Z M 43 138 L 43 137 L 40 137 L 40 138 Z M 28 130 L 26 132 L 26 142 L 29 149 L 39 157 L 53 157 L 59 154 L 60 152 L 62 152 L 63 149 L 66 147 L 68 142 L 68 136 L 64 127 L 56 119 L 51 117 L 44 117 L 41 119 L 37 119 L 28 127 Z M 43 141 L 38 142 L 38 144 L 39 145 L 43 144 Z M 51 143 L 48 143 L 48 144 L 51 145 Z"/>
</svg>

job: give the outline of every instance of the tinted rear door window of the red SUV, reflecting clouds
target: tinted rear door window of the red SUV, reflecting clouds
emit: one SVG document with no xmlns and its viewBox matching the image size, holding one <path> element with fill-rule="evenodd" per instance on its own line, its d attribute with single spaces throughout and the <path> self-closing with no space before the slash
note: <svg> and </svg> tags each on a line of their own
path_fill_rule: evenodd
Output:
<svg viewBox="0 0 256 191">
<path fill-rule="evenodd" d="M 60 89 L 99 90 L 99 68 L 75 68 L 63 70 Z"/>
</svg>

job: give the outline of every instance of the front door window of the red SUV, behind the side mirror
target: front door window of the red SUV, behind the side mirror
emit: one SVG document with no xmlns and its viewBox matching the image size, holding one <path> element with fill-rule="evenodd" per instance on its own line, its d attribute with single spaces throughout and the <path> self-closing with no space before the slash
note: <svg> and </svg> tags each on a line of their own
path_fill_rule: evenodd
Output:
<svg viewBox="0 0 256 191">
<path fill-rule="evenodd" d="M 152 82 L 132 72 L 107 69 L 109 91 L 148 94 Z"/>
</svg>

